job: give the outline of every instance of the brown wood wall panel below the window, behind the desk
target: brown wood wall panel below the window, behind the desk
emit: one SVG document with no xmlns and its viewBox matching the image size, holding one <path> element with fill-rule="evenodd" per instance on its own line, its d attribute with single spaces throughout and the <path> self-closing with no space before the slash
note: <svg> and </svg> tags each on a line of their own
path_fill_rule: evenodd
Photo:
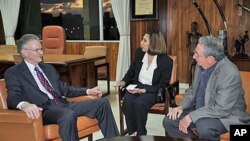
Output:
<svg viewBox="0 0 250 141">
<path fill-rule="evenodd" d="M 118 42 L 66 42 L 66 54 L 84 54 L 85 46 L 107 46 L 108 55 L 107 60 L 110 67 L 110 80 L 115 81 L 116 64 L 118 56 Z"/>
</svg>

